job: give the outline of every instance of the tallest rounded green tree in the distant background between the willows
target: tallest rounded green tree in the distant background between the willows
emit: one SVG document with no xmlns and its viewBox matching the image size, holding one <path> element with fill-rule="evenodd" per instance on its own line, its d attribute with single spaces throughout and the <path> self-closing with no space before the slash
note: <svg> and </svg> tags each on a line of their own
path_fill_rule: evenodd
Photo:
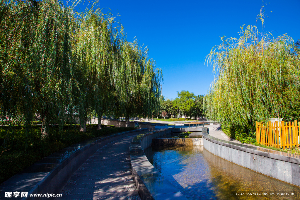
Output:
<svg viewBox="0 0 300 200">
<path fill-rule="evenodd" d="M 184 120 L 186 120 L 187 113 L 189 113 L 195 106 L 194 93 L 189 91 L 177 92 L 179 109 L 184 113 Z"/>
</svg>

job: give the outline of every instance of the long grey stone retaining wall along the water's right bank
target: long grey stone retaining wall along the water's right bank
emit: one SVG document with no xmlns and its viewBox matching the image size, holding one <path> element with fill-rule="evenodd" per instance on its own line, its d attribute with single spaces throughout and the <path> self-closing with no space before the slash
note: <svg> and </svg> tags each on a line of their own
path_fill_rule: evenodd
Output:
<svg viewBox="0 0 300 200">
<path fill-rule="evenodd" d="M 203 148 L 255 172 L 300 186 L 300 156 L 237 144 L 210 136 L 202 130 Z"/>
</svg>

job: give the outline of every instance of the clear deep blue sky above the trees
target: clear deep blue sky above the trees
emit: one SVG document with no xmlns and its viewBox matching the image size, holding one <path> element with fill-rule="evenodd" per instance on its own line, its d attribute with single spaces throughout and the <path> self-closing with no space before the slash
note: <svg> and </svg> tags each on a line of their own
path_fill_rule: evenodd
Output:
<svg viewBox="0 0 300 200">
<path fill-rule="evenodd" d="M 276 36 L 287 33 L 298 41 L 300 1 L 265 3 L 269 18 L 265 18 L 264 31 Z M 204 65 L 205 56 L 220 44 L 222 35 L 238 37 L 240 26 L 255 25 L 262 1 L 99 0 L 99 5 L 109 7 L 113 14 L 119 12 L 117 19 L 128 41 L 137 37 L 148 46 L 150 58 L 163 72 L 162 94 L 174 99 L 181 90 L 196 95 L 207 93 L 214 77 L 211 67 Z"/>
</svg>

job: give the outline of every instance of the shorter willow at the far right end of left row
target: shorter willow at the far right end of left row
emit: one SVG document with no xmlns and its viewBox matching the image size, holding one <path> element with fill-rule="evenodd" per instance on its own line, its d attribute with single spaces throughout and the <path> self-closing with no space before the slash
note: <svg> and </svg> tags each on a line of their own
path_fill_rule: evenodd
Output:
<svg viewBox="0 0 300 200">
<path fill-rule="evenodd" d="M 148 58 L 148 49 L 141 49 L 137 40 L 126 40 L 119 45 L 119 65 L 116 70 L 116 91 L 120 111 L 130 127 L 130 117 L 150 118 L 158 109 L 162 73 L 155 69 L 155 61 Z"/>
</svg>

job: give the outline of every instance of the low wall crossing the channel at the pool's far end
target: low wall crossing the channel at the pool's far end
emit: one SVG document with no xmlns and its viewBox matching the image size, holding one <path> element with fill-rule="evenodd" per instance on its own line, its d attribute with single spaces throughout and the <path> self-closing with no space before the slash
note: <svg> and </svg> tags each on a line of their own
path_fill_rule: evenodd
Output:
<svg viewBox="0 0 300 200">
<path fill-rule="evenodd" d="M 202 138 L 164 138 L 152 139 L 152 146 L 194 146 L 202 145 Z"/>
</svg>

